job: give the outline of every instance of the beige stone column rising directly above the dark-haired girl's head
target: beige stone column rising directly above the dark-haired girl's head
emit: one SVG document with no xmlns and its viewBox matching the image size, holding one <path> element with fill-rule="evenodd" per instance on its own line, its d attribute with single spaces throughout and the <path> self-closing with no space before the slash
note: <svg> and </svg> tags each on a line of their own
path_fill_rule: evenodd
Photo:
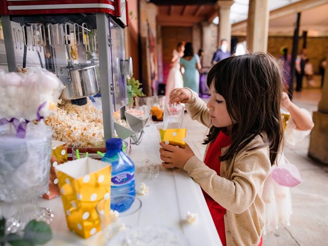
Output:
<svg viewBox="0 0 328 246">
<path fill-rule="evenodd" d="M 247 21 L 247 47 L 251 52 L 268 50 L 269 0 L 250 0 Z"/>
</svg>

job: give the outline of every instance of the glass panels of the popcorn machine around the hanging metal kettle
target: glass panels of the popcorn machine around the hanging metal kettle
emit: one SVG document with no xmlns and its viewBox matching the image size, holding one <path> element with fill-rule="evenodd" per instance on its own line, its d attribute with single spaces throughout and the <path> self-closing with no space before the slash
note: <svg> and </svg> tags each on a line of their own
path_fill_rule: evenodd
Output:
<svg viewBox="0 0 328 246">
<path fill-rule="evenodd" d="M 108 20 L 111 50 L 108 84 L 117 111 L 127 104 L 125 40 L 124 30 L 111 17 L 108 16 Z M 65 99 L 80 100 L 101 94 L 100 83 L 97 83 L 99 52 L 104 51 L 98 50 L 96 14 L 10 16 L 10 26 L 16 70 L 24 72 L 43 67 L 54 72 L 66 86 L 62 95 Z M 77 82 L 73 71 L 79 73 Z M 80 81 L 83 79 L 85 81 Z"/>
</svg>

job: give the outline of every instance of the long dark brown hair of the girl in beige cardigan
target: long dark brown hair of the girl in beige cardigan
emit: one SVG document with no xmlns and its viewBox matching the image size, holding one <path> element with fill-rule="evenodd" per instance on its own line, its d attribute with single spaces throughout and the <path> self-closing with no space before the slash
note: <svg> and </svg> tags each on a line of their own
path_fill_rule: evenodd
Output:
<svg viewBox="0 0 328 246">
<path fill-rule="evenodd" d="M 231 132 L 231 146 L 220 157 L 230 159 L 247 146 L 262 131 L 264 146 L 270 148 L 273 165 L 282 140 L 280 100 L 282 74 L 277 61 L 264 53 L 231 56 L 219 61 L 210 70 L 207 85 L 214 83 L 215 91 L 226 100 L 227 111 L 237 123 Z M 212 126 L 204 144 L 214 141 L 223 128 Z"/>
</svg>

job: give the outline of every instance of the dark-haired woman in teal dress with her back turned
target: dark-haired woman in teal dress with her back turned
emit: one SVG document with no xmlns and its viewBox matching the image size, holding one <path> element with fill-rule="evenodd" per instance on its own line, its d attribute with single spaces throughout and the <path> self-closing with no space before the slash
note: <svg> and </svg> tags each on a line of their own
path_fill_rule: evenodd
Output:
<svg viewBox="0 0 328 246">
<path fill-rule="evenodd" d="M 201 69 L 200 59 L 194 53 L 192 43 L 187 43 L 185 47 L 185 54 L 180 59 L 181 70 L 185 69 L 183 73 L 183 87 L 188 87 L 193 91 L 199 93 L 199 70 Z"/>
</svg>

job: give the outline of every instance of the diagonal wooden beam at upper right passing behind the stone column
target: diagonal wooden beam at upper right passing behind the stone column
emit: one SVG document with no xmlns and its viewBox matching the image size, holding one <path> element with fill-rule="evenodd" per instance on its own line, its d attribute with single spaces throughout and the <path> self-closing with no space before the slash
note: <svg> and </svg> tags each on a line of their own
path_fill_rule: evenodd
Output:
<svg viewBox="0 0 328 246">
<path fill-rule="evenodd" d="M 276 19 L 289 14 L 296 14 L 306 9 L 318 7 L 326 3 L 327 0 L 301 0 L 299 2 L 295 2 L 293 4 L 289 4 L 284 7 L 281 7 L 279 9 L 271 10 L 269 20 Z M 243 20 L 242 22 L 233 24 L 231 26 L 231 32 L 236 32 L 246 27 L 247 27 L 247 20 Z"/>
</svg>

